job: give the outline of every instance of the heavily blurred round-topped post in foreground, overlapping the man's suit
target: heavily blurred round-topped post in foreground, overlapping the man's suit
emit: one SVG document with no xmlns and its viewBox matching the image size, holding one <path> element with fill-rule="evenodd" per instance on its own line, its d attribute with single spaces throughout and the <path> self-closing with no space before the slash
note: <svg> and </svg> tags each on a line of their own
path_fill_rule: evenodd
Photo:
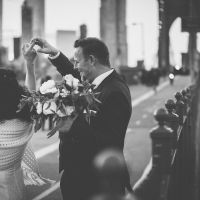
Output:
<svg viewBox="0 0 200 200">
<path fill-rule="evenodd" d="M 94 159 L 99 192 L 90 200 L 137 200 L 132 188 L 127 188 L 128 195 L 122 191 L 126 184 L 128 169 L 123 153 L 117 149 L 106 149 Z M 126 197 L 128 196 L 128 197 Z"/>
</svg>

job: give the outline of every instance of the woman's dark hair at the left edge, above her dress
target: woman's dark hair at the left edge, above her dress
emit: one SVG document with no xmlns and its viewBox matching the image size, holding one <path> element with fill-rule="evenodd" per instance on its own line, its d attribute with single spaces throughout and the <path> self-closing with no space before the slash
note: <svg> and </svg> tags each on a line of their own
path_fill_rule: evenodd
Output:
<svg viewBox="0 0 200 200">
<path fill-rule="evenodd" d="M 12 70 L 0 68 L 0 121 L 21 119 L 30 121 L 28 108 L 18 111 L 18 104 L 27 90 L 20 86 Z"/>
</svg>

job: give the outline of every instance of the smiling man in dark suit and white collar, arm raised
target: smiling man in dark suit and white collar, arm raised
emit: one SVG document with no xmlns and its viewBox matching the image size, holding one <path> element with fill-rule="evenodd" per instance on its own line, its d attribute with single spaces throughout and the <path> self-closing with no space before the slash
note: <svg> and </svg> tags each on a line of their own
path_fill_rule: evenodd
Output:
<svg viewBox="0 0 200 200">
<path fill-rule="evenodd" d="M 61 75 L 72 74 L 94 84 L 101 101 L 99 111 L 88 124 L 78 116 L 69 131 L 60 130 L 61 192 L 64 200 L 85 200 L 100 192 L 93 170 L 94 157 L 107 148 L 123 152 L 126 129 L 131 117 L 131 96 L 126 83 L 110 67 L 107 46 L 97 38 L 76 40 L 74 65 L 45 40 L 32 40 L 41 48 Z M 128 173 L 119 183 L 119 193 L 129 187 Z"/>
</svg>

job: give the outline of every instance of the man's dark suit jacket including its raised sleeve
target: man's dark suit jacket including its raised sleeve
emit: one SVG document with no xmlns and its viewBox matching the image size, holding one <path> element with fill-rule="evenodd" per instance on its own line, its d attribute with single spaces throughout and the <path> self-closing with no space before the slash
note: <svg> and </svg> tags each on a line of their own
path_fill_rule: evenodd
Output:
<svg viewBox="0 0 200 200">
<path fill-rule="evenodd" d="M 80 79 L 79 72 L 66 56 L 51 60 L 61 75 L 72 74 Z M 82 116 L 73 123 L 68 133 L 60 134 L 60 170 L 83 175 L 91 174 L 95 155 L 106 148 L 123 151 L 126 129 L 131 117 L 131 96 L 128 86 L 113 71 L 97 87 L 101 101 L 99 111 L 88 124 Z"/>
</svg>

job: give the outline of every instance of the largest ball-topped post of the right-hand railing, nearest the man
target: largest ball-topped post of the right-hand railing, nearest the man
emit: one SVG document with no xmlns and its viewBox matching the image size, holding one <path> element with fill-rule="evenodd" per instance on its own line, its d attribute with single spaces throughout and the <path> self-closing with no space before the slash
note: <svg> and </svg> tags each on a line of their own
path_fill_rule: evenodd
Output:
<svg viewBox="0 0 200 200">
<path fill-rule="evenodd" d="M 158 121 L 158 126 L 150 132 L 152 139 L 152 162 L 153 167 L 156 168 L 161 178 L 158 200 L 166 200 L 171 164 L 173 130 L 165 125 L 168 114 L 164 108 L 158 109 L 154 113 L 154 117 Z"/>
</svg>

